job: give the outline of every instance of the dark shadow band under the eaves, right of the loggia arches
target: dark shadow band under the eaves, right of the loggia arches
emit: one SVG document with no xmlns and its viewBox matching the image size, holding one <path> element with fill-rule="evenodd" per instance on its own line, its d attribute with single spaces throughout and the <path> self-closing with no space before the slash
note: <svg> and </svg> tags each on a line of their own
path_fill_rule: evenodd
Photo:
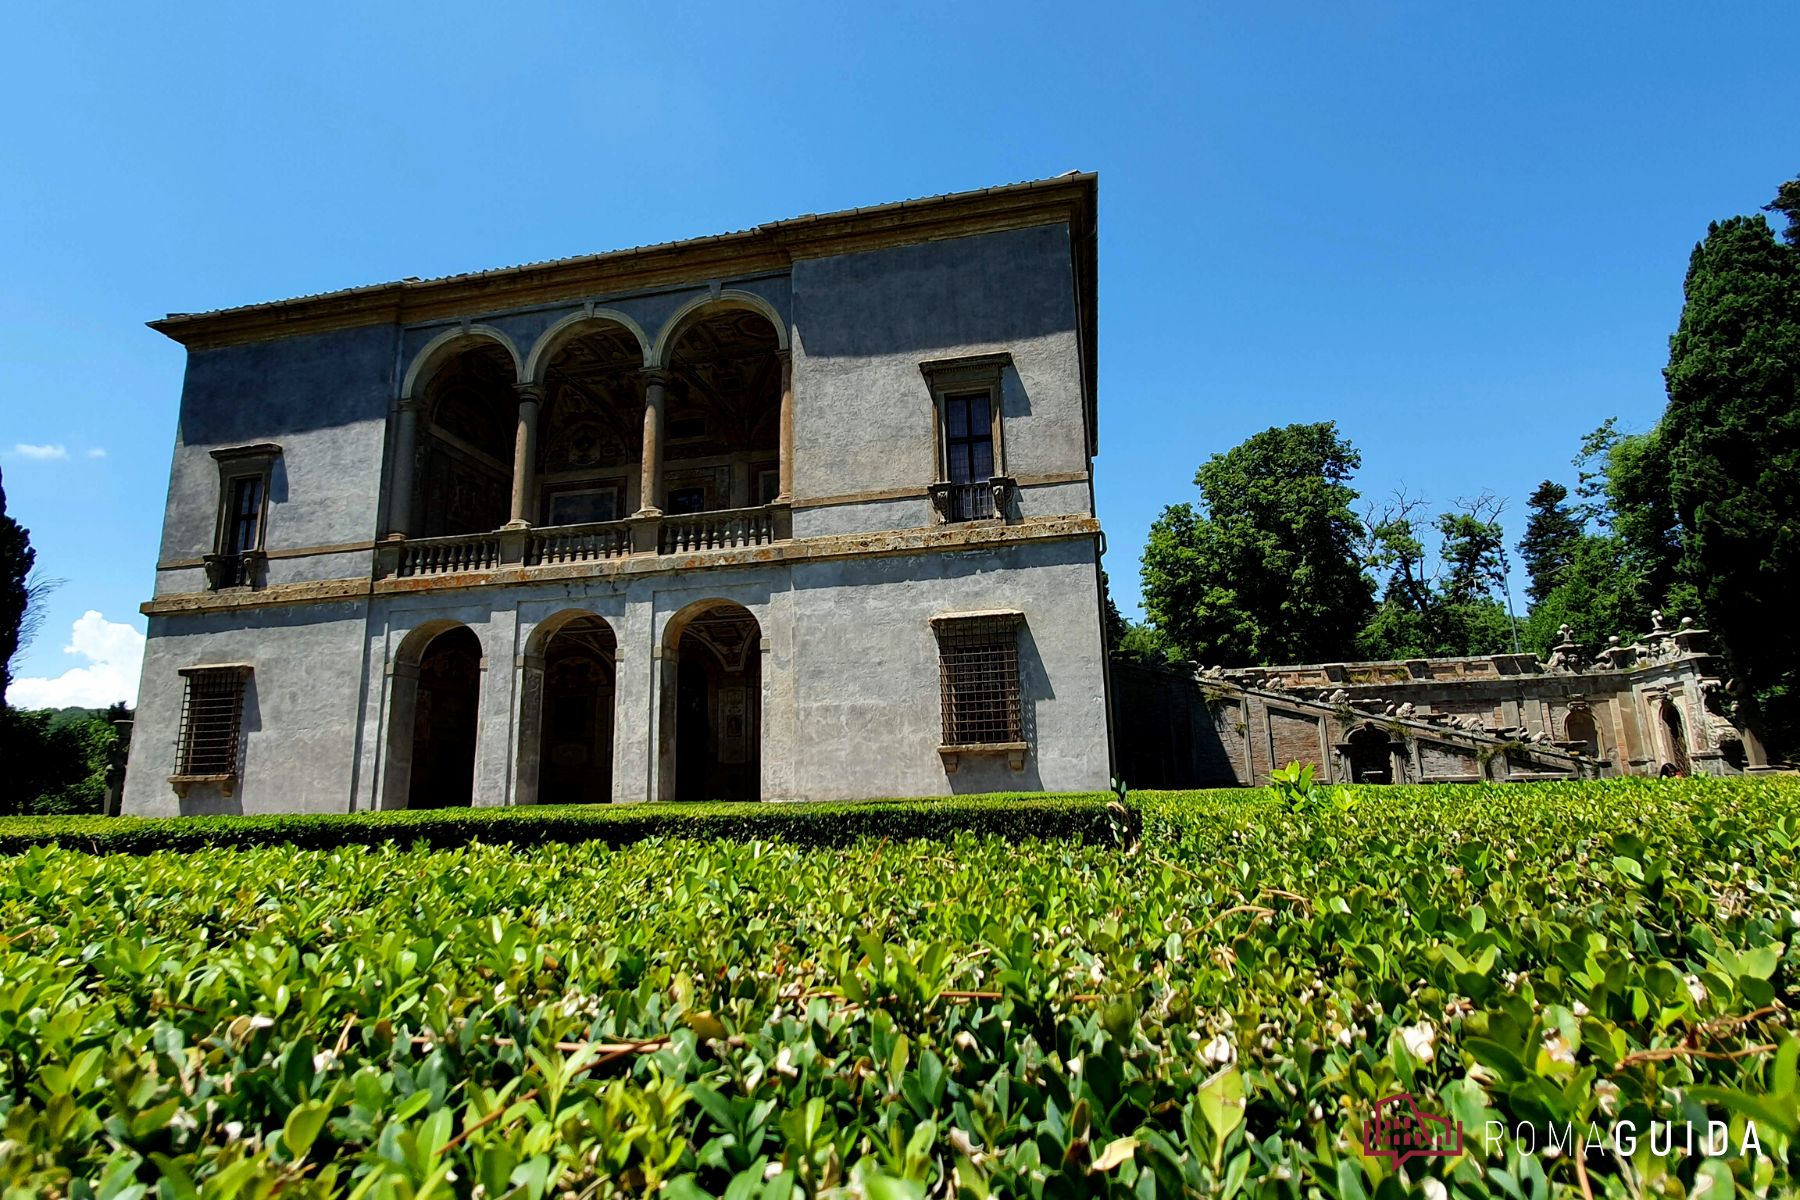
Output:
<svg viewBox="0 0 1800 1200">
<path fill-rule="evenodd" d="M 796 282 L 796 340 L 808 358 L 1075 333 L 1064 225 L 815 259 L 797 268 Z M 810 297 L 830 306 L 812 309 Z"/>
</svg>

